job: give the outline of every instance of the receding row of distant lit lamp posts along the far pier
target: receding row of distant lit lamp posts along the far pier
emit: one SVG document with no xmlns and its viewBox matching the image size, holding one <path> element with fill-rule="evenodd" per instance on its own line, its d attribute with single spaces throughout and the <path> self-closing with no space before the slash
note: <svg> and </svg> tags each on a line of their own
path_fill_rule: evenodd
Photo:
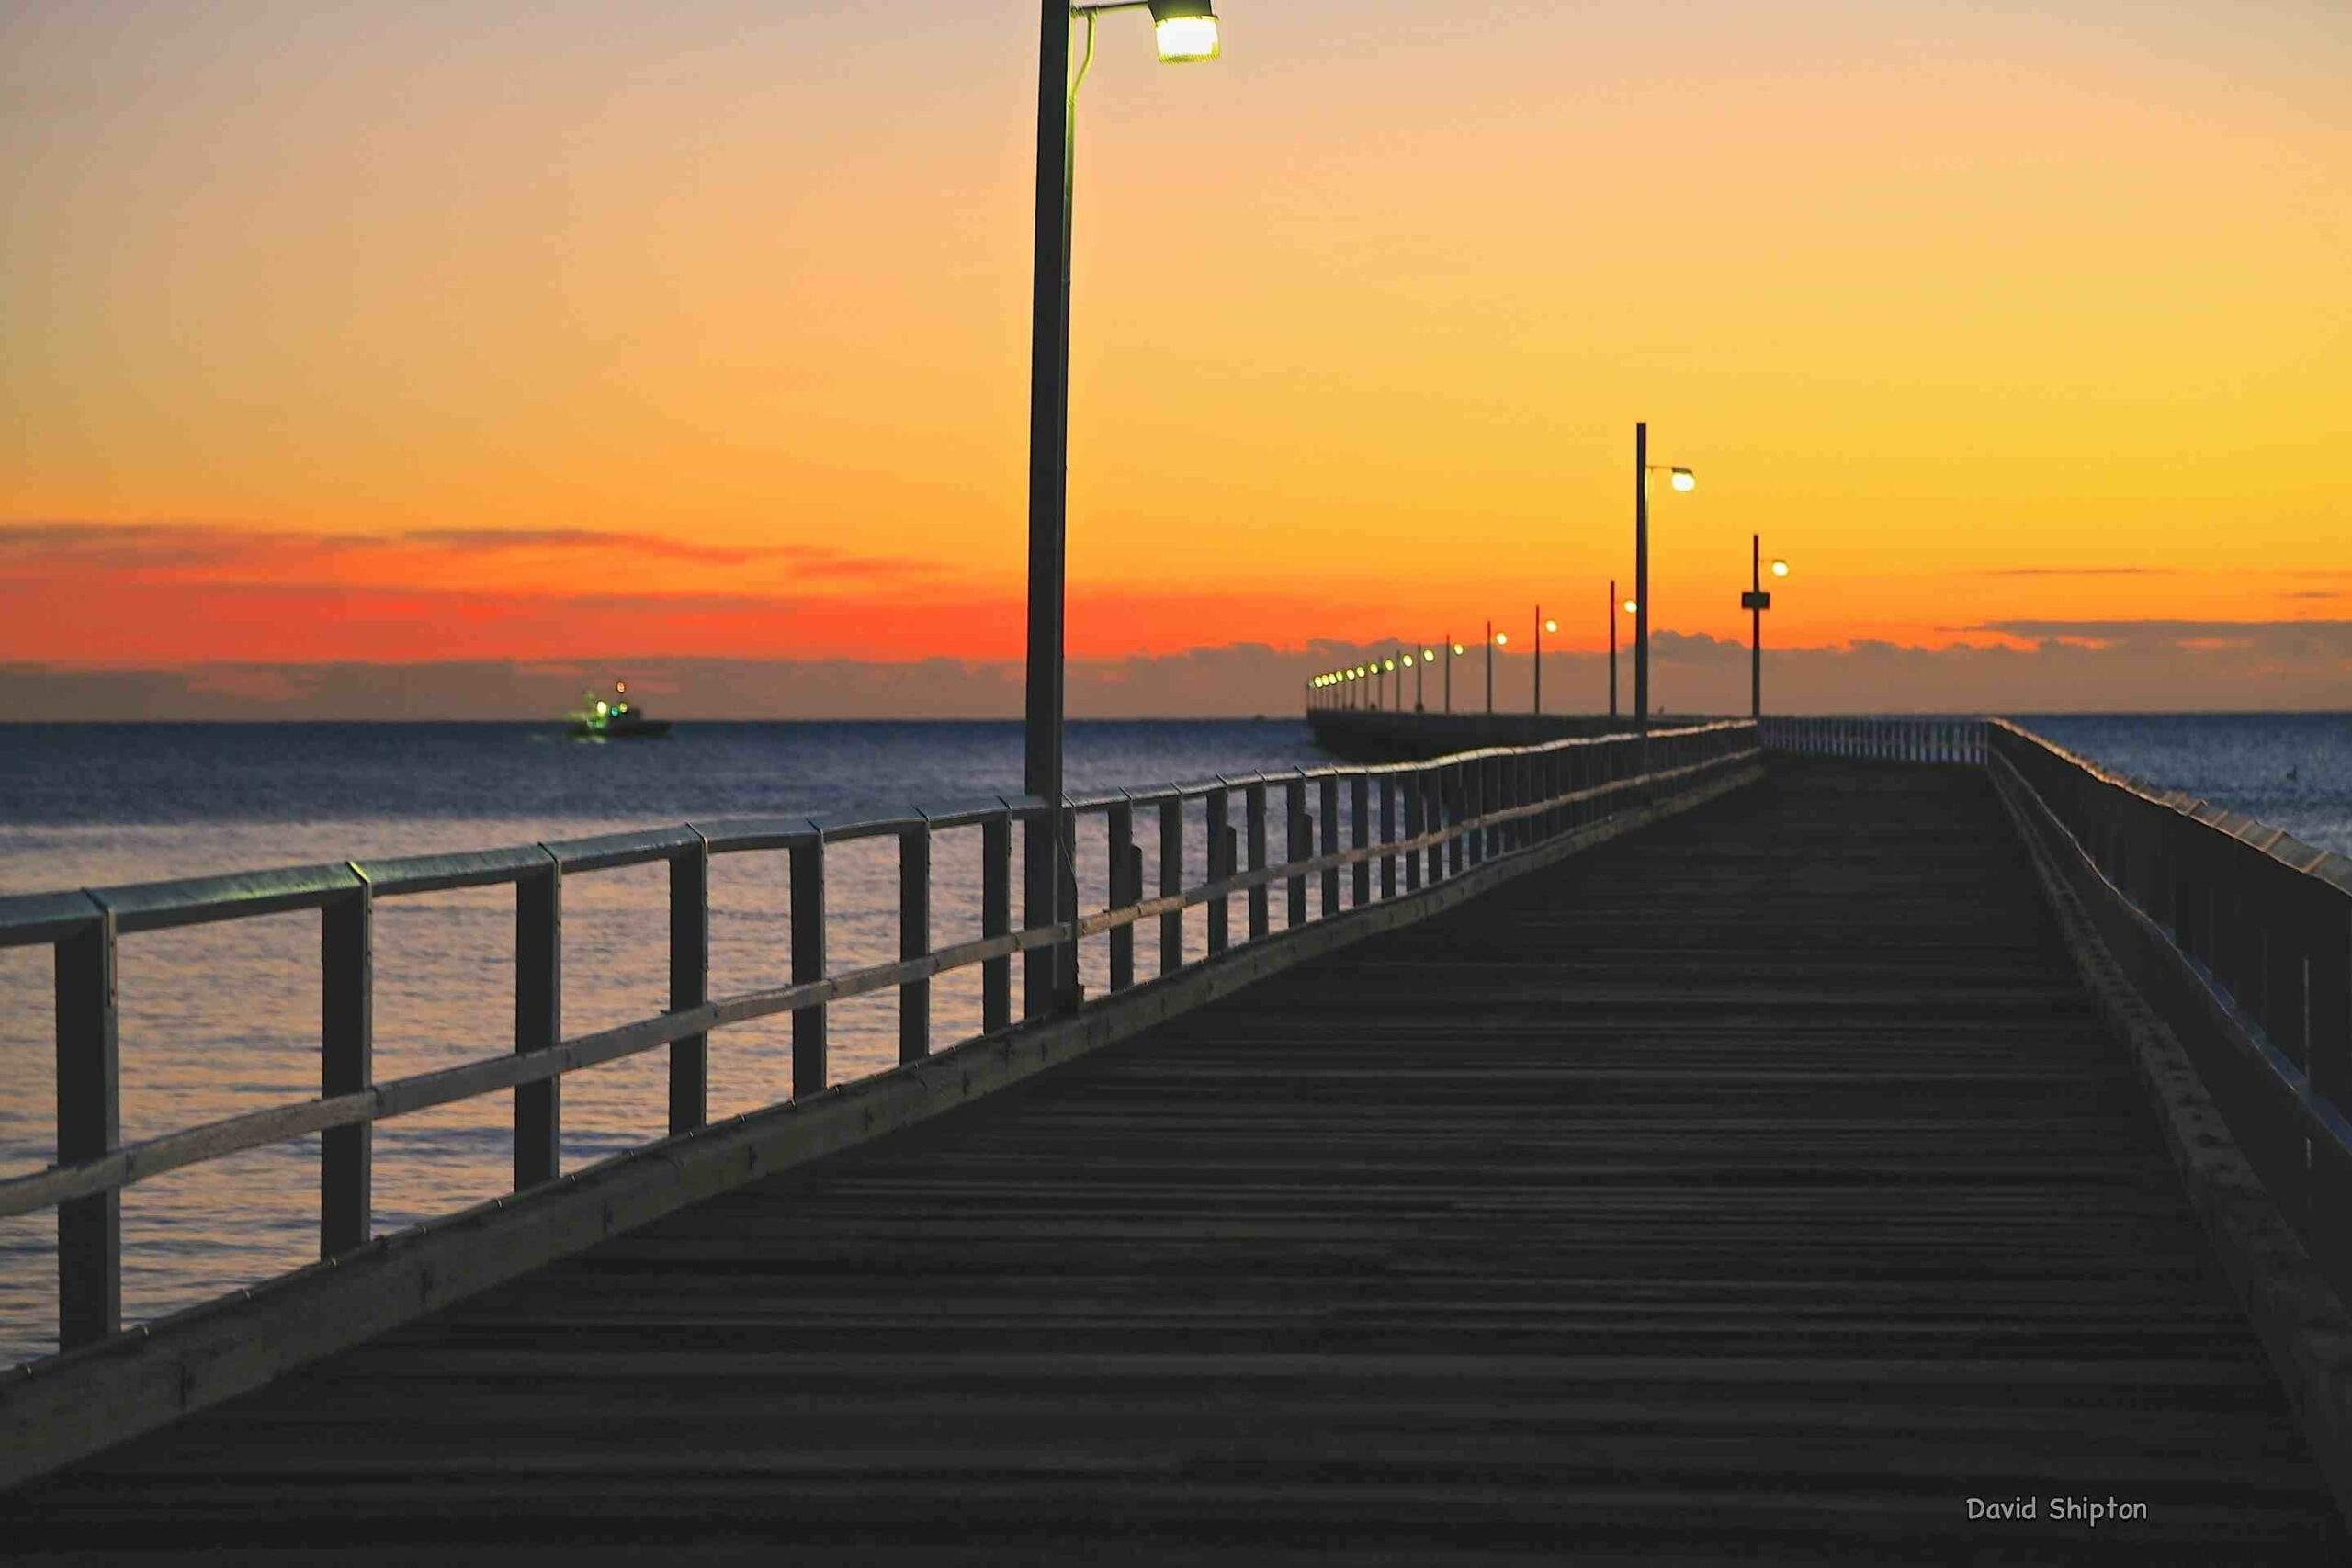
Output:
<svg viewBox="0 0 2352 1568">
<path fill-rule="evenodd" d="M 1618 717 L 1618 672 L 1616 672 L 1616 618 L 1618 611 L 1632 616 L 1632 710 L 1635 726 L 1649 731 L 1649 475 L 1665 473 L 1668 482 L 1677 491 L 1698 489 L 1698 477 L 1689 468 L 1675 468 L 1670 463 L 1649 461 L 1649 425 L 1637 423 L 1632 428 L 1635 449 L 1635 597 L 1618 599 L 1618 585 L 1609 583 L 1609 717 Z M 1740 609 L 1748 611 L 1748 712 L 1750 717 L 1764 717 L 1764 611 L 1771 609 L 1771 592 L 1764 588 L 1764 536 L 1748 536 L 1748 592 L 1740 595 Z M 1788 562 L 1776 559 L 1771 564 L 1776 578 L 1788 576 Z M 1543 715 L 1543 635 L 1557 632 L 1559 621 L 1543 614 L 1536 607 L 1536 701 L 1534 712 Z M 1510 632 L 1494 630 L 1494 621 L 1486 623 L 1486 712 L 1494 712 L 1494 651 L 1510 646 Z M 1359 665 L 1343 665 L 1338 670 L 1324 670 L 1305 682 L 1308 708 L 1402 708 L 1404 705 L 1404 677 L 1414 677 L 1414 712 L 1428 708 L 1428 670 L 1439 658 L 1444 661 L 1444 710 L 1454 712 L 1454 661 L 1468 654 L 1468 649 L 1451 637 L 1437 642 L 1437 646 L 1421 646 L 1416 656 L 1411 644 L 1399 646 L 1395 654 L 1383 658 L 1371 658 Z M 1388 698 L 1383 703 L 1383 696 Z"/>
</svg>

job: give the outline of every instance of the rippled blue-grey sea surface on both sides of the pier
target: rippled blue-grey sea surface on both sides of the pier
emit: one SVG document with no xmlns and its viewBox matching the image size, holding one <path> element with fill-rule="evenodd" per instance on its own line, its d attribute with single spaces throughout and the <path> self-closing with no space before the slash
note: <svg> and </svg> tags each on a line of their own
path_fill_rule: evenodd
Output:
<svg viewBox="0 0 2352 1568">
<path fill-rule="evenodd" d="M 2352 715 L 2051 715 L 2060 745 L 2194 790 L 2352 853 Z M 1080 722 L 1070 788 L 1317 766 L 1305 724 Z M 369 856 L 494 849 L 739 816 L 882 816 L 1011 795 L 1018 724 L 680 724 L 668 741 L 583 745 L 548 724 L 0 724 L 0 893 L 108 886 Z M 1279 813 L 1279 806 L 1277 806 Z M 1188 875 L 1200 877 L 1200 809 Z M 1157 835 L 1141 830 L 1148 884 Z M 1279 825 L 1272 842 L 1279 846 Z M 978 830 L 941 835 L 934 943 L 978 936 Z M 1101 830 L 1077 870 L 1103 900 Z M 1310 898 L 1319 889 L 1310 884 Z M 830 969 L 898 952 L 898 863 L 887 839 L 828 851 Z M 1310 907 L 1310 914 L 1315 910 Z M 1275 898 L 1275 919 L 1282 900 Z M 564 1032 L 659 1013 L 668 882 L 661 865 L 564 884 Z M 713 863 L 713 994 L 788 980 L 783 853 Z M 388 898 L 376 910 L 379 1079 L 513 1048 L 513 891 Z M 1190 917 L 1188 952 L 1204 943 Z M 1138 943 L 1155 971 L 1157 943 Z M 49 950 L 0 950 L 0 1175 L 54 1159 Z M 1105 980 L 1089 943 L 1084 980 Z M 1018 987 L 1018 978 L 1016 978 Z M 943 976 L 934 1048 L 978 1030 L 978 971 Z M 896 1060 L 898 1009 L 830 1009 L 833 1077 Z M 120 950 L 122 1135 L 318 1093 L 318 914 L 136 933 Z M 790 1023 L 710 1041 L 710 1110 L 783 1100 Z M 663 1133 L 666 1053 L 569 1074 L 564 1168 Z M 510 1180 L 513 1095 L 376 1128 L 376 1229 L 496 1197 Z M 125 1316 L 165 1312 L 315 1258 L 318 1140 L 172 1171 L 122 1197 Z M 0 1220 L 0 1361 L 54 1347 L 54 1220 Z"/>
</svg>

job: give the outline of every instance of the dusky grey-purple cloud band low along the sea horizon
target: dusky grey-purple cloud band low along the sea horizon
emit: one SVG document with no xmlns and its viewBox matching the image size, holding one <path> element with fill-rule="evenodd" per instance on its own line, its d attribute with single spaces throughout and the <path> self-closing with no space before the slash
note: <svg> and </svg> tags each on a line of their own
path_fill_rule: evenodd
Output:
<svg viewBox="0 0 2352 1568">
<path fill-rule="evenodd" d="M 1999 644 L 1853 642 L 1766 649 L 1773 712 L 2211 712 L 2352 710 L 2352 621 L 1987 623 Z M 2023 642 L 2018 642 L 2023 639 Z M 1317 670 L 1390 644 L 1305 651 L 1225 644 L 1134 658 L 1075 658 L 1073 717 L 1284 717 Z M 1018 717 L 1016 658 L 630 658 L 630 661 L 219 661 L 176 668 L 0 663 L 0 719 L 553 719 L 581 686 L 630 679 L 675 719 Z M 1630 701 L 1632 658 L 1618 661 Z M 1545 708 L 1606 708 L 1606 656 L 1545 654 Z M 1404 703 L 1414 682 L 1402 682 Z M 1745 712 L 1748 646 L 1661 632 L 1651 689 L 1677 712 Z M 1430 672 L 1423 703 L 1444 701 Z M 1524 712 L 1531 661 L 1496 661 L 1496 708 Z M 1484 705 L 1477 649 L 1454 663 L 1454 708 Z"/>
</svg>

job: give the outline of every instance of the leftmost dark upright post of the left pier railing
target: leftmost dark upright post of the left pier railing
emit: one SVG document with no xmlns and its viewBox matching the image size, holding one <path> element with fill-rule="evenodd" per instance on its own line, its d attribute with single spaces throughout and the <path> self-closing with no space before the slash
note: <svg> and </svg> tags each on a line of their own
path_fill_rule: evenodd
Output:
<svg viewBox="0 0 2352 1568">
<path fill-rule="evenodd" d="M 122 1143 L 122 1063 L 115 1048 L 115 912 L 56 943 L 56 1164 Z M 56 1206 L 56 1347 L 94 1345 L 122 1328 L 122 1192 Z"/>
</svg>

